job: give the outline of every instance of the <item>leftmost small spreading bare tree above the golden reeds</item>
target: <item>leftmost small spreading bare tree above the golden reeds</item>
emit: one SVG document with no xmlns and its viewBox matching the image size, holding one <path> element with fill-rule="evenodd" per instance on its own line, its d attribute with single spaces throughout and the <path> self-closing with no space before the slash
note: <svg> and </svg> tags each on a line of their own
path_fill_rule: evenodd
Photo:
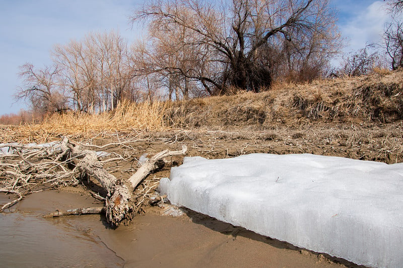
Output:
<svg viewBox="0 0 403 268">
<path fill-rule="evenodd" d="M 63 88 L 57 84 L 56 66 L 34 69 L 30 63 L 20 66 L 19 76 L 24 85 L 19 87 L 15 97 L 29 100 L 32 108 L 40 112 L 63 112 L 68 109 Z"/>
</svg>

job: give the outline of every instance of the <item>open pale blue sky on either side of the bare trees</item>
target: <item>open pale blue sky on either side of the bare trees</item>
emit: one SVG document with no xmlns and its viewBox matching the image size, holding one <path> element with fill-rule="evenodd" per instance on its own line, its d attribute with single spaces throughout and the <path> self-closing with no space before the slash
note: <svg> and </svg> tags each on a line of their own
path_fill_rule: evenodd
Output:
<svg viewBox="0 0 403 268">
<path fill-rule="evenodd" d="M 339 28 L 350 45 L 346 51 L 377 42 L 388 16 L 383 1 L 330 0 L 339 9 Z M 118 29 L 129 42 L 141 36 L 130 29 L 128 16 L 141 0 L 0 0 L 0 115 L 28 109 L 15 103 L 21 85 L 18 67 L 26 62 L 41 68 L 51 63 L 56 43 L 82 39 L 89 32 Z"/>
</svg>

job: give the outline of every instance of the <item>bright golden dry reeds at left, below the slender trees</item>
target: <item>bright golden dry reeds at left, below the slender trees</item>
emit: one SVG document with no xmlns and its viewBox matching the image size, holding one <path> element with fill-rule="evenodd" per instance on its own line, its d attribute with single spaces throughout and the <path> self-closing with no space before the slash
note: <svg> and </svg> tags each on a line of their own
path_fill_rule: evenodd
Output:
<svg viewBox="0 0 403 268">
<path fill-rule="evenodd" d="M 0 142 L 48 141 L 60 135 L 94 137 L 102 132 L 162 131 L 175 125 L 167 120 L 169 103 L 163 101 L 124 102 L 113 112 L 100 114 L 53 114 L 39 124 L 4 126 Z"/>
</svg>

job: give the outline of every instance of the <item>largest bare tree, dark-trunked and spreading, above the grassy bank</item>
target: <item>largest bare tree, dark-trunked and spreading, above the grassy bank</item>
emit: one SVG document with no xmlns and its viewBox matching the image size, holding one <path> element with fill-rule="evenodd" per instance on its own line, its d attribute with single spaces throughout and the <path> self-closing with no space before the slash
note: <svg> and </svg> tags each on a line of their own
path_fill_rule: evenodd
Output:
<svg viewBox="0 0 403 268">
<path fill-rule="evenodd" d="M 164 70 L 198 81 L 210 94 L 230 86 L 268 87 L 284 59 L 291 69 L 304 70 L 334 53 L 340 38 L 327 0 L 159 0 L 131 19 L 150 23 L 161 35 L 189 32 L 179 44 L 182 51 L 196 51 L 197 68 Z M 285 55 L 270 57 L 276 51 Z"/>
</svg>

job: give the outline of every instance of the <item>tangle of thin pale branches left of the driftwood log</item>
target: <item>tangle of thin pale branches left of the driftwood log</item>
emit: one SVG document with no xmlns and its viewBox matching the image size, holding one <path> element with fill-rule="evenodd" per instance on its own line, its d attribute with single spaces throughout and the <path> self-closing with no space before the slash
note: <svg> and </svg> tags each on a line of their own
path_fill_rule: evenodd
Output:
<svg viewBox="0 0 403 268">
<path fill-rule="evenodd" d="M 1 191 L 18 195 L 18 198 L 3 205 L 0 211 L 20 201 L 24 195 L 44 187 L 77 184 L 79 174 L 75 169 L 65 167 L 68 159 L 61 160 L 60 152 L 60 143 L 57 142 L 38 145 L 2 144 Z"/>
</svg>

